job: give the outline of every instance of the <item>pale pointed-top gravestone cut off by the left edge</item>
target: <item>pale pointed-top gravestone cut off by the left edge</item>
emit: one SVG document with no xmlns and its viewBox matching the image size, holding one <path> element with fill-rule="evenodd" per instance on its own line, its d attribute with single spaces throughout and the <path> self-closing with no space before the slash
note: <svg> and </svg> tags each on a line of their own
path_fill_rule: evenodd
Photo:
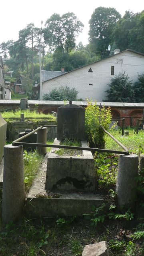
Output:
<svg viewBox="0 0 144 256">
<path fill-rule="evenodd" d="M 0 114 L 0 162 L 4 155 L 4 145 L 6 143 L 6 127 L 7 123 Z"/>
</svg>

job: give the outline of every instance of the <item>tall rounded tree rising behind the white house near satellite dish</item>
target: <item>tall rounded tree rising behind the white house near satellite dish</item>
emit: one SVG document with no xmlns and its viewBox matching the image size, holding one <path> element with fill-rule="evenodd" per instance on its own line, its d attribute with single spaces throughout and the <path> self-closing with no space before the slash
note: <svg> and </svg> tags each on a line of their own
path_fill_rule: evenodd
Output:
<svg viewBox="0 0 144 256">
<path fill-rule="evenodd" d="M 120 13 L 110 7 L 98 7 L 91 16 L 89 21 L 90 45 L 96 51 L 102 52 L 102 57 L 104 57 L 106 48 L 108 48 L 108 45 L 112 41 L 112 31 L 120 18 Z"/>
</svg>

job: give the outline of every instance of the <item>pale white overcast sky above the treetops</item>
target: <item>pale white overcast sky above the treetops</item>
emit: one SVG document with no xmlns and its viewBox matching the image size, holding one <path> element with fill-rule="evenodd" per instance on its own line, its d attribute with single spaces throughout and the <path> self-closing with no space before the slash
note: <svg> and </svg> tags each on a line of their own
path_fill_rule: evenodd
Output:
<svg viewBox="0 0 144 256">
<path fill-rule="evenodd" d="M 62 15 L 66 12 L 74 12 L 77 18 L 84 24 L 76 44 L 80 41 L 88 43 L 89 20 L 92 13 L 99 6 L 113 7 L 122 16 L 126 10 L 134 13 L 142 12 L 144 4 L 142 0 L 6 0 L 0 1 L 0 43 L 8 40 L 18 40 L 18 32 L 29 23 L 36 27 L 41 26 L 41 20 L 45 23 L 54 12 Z M 43 26 L 44 26 L 43 23 Z"/>
</svg>

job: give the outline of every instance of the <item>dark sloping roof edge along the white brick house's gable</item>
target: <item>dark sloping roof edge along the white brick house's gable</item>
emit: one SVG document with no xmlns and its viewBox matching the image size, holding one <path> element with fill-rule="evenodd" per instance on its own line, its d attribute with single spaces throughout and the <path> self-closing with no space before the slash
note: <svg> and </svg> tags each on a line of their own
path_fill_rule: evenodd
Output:
<svg viewBox="0 0 144 256">
<path fill-rule="evenodd" d="M 119 52 L 119 53 L 114 54 L 114 55 L 112 55 L 112 56 L 109 56 L 109 57 L 107 57 L 107 58 L 103 58 L 103 59 L 97 60 L 96 62 L 93 62 L 93 63 L 87 64 L 87 65 L 81 66 L 81 67 L 79 67 L 79 68 L 75 68 L 75 69 L 73 69 L 73 70 L 70 70 L 70 71 L 68 71 L 68 72 L 66 72 L 66 73 L 63 73 L 63 74 L 60 74 L 60 75 L 58 75 L 58 76 L 56 76 L 56 77 L 64 76 L 64 75 L 66 75 L 66 74 L 68 74 L 68 73 L 70 73 L 70 72 L 74 72 L 75 70 L 78 70 L 78 69 L 81 69 L 81 68 L 90 66 L 90 65 L 92 65 L 92 64 L 94 64 L 94 63 L 98 63 L 98 62 L 100 62 L 100 61 L 102 61 L 102 60 L 105 60 L 105 59 L 108 59 L 108 58 L 114 58 L 114 56 L 117 56 L 117 55 L 120 55 L 120 54 L 122 55 L 122 53 L 124 53 L 124 52 L 132 52 L 132 53 L 135 53 L 135 54 L 144 56 L 144 53 L 136 52 L 136 51 L 133 51 L 133 50 L 131 50 L 131 49 L 126 49 L 126 50 L 124 50 L 124 51 L 122 51 L 122 52 Z M 54 77 L 54 78 L 56 78 L 56 77 Z M 54 78 L 50 78 L 50 79 L 48 79 L 48 80 L 52 80 L 52 79 L 54 79 Z M 44 82 L 47 82 L 48 80 L 43 81 L 43 83 L 44 83 Z M 38 84 L 37 88 L 39 87 L 39 85 L 40 85 L 40 84 Z"/>
</svg>

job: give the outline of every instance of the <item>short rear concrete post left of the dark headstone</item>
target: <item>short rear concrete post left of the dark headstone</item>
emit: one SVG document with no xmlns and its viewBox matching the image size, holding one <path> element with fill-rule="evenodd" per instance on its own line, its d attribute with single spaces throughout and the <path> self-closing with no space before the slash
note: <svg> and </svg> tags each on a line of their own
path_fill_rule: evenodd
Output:
<svg viewBox="0 0 144 256">
<path fill-rule="evenodd" d="M 38 130 L 36 143 L 46 144 L 46 132 L 47 132 L 46 127 L 43 127 L 43 128 Z M 38 154 L 42 154 L 42 155 L 45 156 L 45 154 L 46 154 L 46 147 L 36 147 L 36 152 Z"/>
</svg>

